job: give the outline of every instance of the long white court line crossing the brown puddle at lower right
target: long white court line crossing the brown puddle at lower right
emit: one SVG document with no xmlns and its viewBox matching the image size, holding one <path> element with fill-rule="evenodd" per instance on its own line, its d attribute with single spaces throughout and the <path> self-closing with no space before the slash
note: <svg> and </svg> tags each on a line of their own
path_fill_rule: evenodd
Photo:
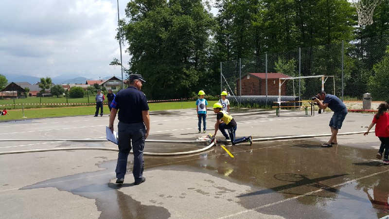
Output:
<svg viewBox="0 0 389 219">
<path fill-rule="evenodd" d="M 245 211 L 237 212 L 235 214 L 230 214 L 230 215 L 221 217 L 219 219 L 230 218 L 230 217 L 238 216 L 238 215 L 241 215 L 241 214 L 244 214 L 244 213 L 248 213 L 248 212 L 251 212 L 251 211 L 256 211 L 256 210 L 261 209 L 261 208 L 265 208 L 265 207 L 273 206 L 273 205 L 276 205 L 276 204 L 280 204 L 280 203 L 283 203 L 285 201 L 291 201 L 291 200 L 299 199 L 299 198 L 304 197 L 304 196 L 308 196 L 308 195 L 312 195 L 312 194 L 324 191 L 325 189 L 328 189 L 328 188 L 339 187 L 339 186 L 342 186 L 342 185 L 345 185 L 345 184 L 348 184 L 348 183 L 351 183 L 351 182 L 354 182 L 354 181 L 363 180 L 365 178 L 372 177 L 372 176 L 375 176 L 375 175 L 378 175 L 378 174 L 381 174 L 381 173 L 385 173 L 385 172 L 388 172 L 388 171 L 389 171 L 389 169 L 381 171 L 381 172 L 378 172 L 378 173 L 373 173 L 373 174 L 370 174 L 370 175 L 367 175 L 367 176 L 359 177 L 359 178 L 356 178 L 354 180 L 349 180 L 349 181 L 346 181 L 346 182 L 343 182 L 343 183 L 335 184 L 333 186 L 327 186 L 325 188 L 318 189 L 318 190 L 315 190 L 315 191 L 312 191 L 312 192 L 307 192 L 307 193 L 299 195 L 299 196 L 295 196 L 295 197 L 292 197 L 292 198 L 284 199 L 284 200 L 281 200 L 281 201 L 276 201 L 276 202 L 265 204 L 265 205 L 261 205 L 261 206 L 258 206 L 256 208 L 251 208 L 251 209 L 247 209 Z"/>
</svg>

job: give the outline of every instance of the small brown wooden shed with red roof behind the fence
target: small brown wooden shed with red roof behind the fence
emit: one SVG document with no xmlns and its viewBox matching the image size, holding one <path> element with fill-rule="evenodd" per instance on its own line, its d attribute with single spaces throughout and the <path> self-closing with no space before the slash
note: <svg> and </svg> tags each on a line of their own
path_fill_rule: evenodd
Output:
<svg viewBox="0 0 389 219">
<path fill-rule="evenodd" d="M 267 73 L 267 95 L 279 95 L 279 79 L 290 77 L 283 73 Z M 242 96 L 266 95 L 266 73 L 248 73 L 242 76 Z M 286 95 L 286 80 L 281 87 L 281 95 Z M 236 93 L 240 92 L 240 81 L 236 81 Z"/>
</svg>

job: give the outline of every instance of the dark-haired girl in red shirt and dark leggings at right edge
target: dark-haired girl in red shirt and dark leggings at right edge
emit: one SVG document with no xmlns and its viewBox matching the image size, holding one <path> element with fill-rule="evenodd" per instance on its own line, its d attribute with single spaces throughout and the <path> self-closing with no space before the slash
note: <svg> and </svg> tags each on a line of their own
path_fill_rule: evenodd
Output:
<svg viewBox="0 0 389 219">
<path fill-rule="evenodd" d="M 389 105 L 387 103 L 382 103 L 378 107 L 377 114 L 374 115 L 373 121 L 371 122 L 368 131 L 363 133 L 363 135 L 369 134 L 369 131 L 375 124 L 375 136 L 377 136 L 381 141 L 380 149 L 378 150 L 377 159 L 381 160 L 382 153 L 384 152 L 384 164 L 389 164 L 388 155 L 389 155 L 389 114 L 388 114 Z"/>
</svg>

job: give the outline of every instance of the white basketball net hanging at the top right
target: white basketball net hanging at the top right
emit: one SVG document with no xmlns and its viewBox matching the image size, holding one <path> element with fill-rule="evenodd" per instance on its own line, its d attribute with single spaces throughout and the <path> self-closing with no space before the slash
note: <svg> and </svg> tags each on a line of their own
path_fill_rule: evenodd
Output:
<svg viewBox="0 0 389 219">
<path fill-rule="evenodd" d="M 358 24 L 366 26 L 373 23 L 373 12 L 380 0 L 353 0 L 356 13 L 358 13 Z"/>
</svg>

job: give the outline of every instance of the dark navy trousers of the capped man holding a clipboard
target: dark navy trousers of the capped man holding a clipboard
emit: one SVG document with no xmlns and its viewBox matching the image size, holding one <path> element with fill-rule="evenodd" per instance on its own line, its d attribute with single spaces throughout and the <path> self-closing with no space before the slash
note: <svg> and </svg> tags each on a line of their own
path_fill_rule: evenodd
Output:
<svg viewBox="0 0 389 219">
<path fill-rule="evenodd" d="M 123 123 L 118 124 L 118 145 L 119 155 L 118 163 L 116 165 L 116 178 L 124 179 L 124 175 L 127 170 L 127 158 L 131 150 L 134 153 L 134 167 L 132 174 L 134 175 L 135 182 L 140 182 L 143 176 L 143 148 L 144 148 L 144 136 L 146 134 L 146 127 L 143 122 L 141 123 Z"/>
</svg>

